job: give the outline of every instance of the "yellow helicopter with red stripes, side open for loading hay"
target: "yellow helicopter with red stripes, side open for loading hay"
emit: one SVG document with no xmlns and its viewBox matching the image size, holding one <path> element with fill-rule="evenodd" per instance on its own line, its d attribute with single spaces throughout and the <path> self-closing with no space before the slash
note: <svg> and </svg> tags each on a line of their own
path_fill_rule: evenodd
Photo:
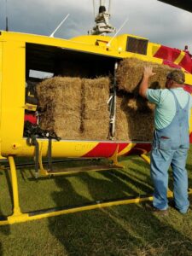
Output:
<svg viewBox="0 0 192 256">
<path fill-rule="evenodd" d="M 161 1 L 170 3 L 182 9 L 192 12 L 187 2 L 175 3 L 175 1 Z M 77 212 L 96 207 L 108 207 L 111 205 L 126 204 L 132 202 L 152 200 L 147 198 L 126 199 L 124 201 L 97 203 L 86 207 L 63 209 L 58 211 L 28 212 L 20 210 L 18 182 L 15 167 L 15 157 L 34 157 L 35 175 L 49 177 L 70 173 L 69 169 L 55 172 L 51 168 L 52 158 L 105 158 L 111 161 L 107 166 L 89 166 L 89 170 L 104 171 L 123 168 L 119 163 L 119 156 L 138 154 L 149 163 L 146 155 L 151 149 L 151 142 L 146 141 L 118 141 L 108 139 L 105 141 L 94 140 L 66 140 L 51 137 L 45 132 L 45 136 L 26 137 L 24 134 L 26 120 L 37 125 L 37 106 L 34 102 L 27 102 L 27 96 L 31 92 L 26 91 L 26 81 L 32 78 L 32 71 L 58 74 L 55 63 L 70 61 L 74 63 L 86 62 L 86 68 L 94 73 L 91 63 L 95 62 L 98 68 L 96 76 L 104 76 L 112 73 L 113 92 L 111 95 L 110 133 L 113 138 L 115 131 L 115 71 L 119 61 L 134 56 L 143 61 L 182 68 L 185 72 L 184 89 L 192 93 L 192 59 L 188 50 L 172 49 L 161 44 L 154 44 L 148 38 L 141 38 L 129 34 L 109 37 L 110 32 L 115 33 L 115 28 L 109 23 L 110 1 L 107 10 L 104 0 L 100 0 L 99 12 L 96 15 L 96 25 L 88 35 L 71 39 L 61 39 L 24 34 L 19 32 L 0 32 L 0 85 L 1 85 L 1 155 L 9 160 L 10 173 L 13 188 L 14 209 L 13 215 L 3 218 L 0 225 L 25 222 L 32 219 L 46 218 L 67 212 Z M 82 64 L 84 67 L 84 64 Z M 85 67 L 84 67 L 85 68 Z M 11 117 L 11 118 L 9 118 Z M 192 123 L 192 119 L 190 119 Z M 14 131 L 13 131 L 13 127 Z M 190 143 L 192 143 L 192 125 L 190 125 Z M 49 157 L 49 170 L 44 169 L 43 158 Z M 82 172 L 82 168 L 73 172 Z M 83 170 L 85 172 L 85 170 Z M 191 193 L 191 190 L 189 191 Z M 172 196 L 172 193 L 170 193 Z"/>
</svg>

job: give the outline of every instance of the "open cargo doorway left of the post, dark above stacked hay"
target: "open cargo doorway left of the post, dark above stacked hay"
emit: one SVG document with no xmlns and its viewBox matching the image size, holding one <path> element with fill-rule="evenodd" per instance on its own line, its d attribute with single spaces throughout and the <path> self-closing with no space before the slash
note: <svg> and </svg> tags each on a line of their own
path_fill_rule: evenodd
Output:
<svg viewBox="0 0 192 256">
<path fill-rule="evenodd" d="M 108 99 L 116 61 L 119 59 L 108 55 L 27 43 L 25 121 L 38 124 L 44 131 L 54 131 L 64 140 L 108 140 Z M 47 96 L 46 103 L 44 96 Z M 89 113 L 84 110 L 84 101 L 91 108 Z M 105 114 L 101 110 L 102 105 L 105 105 Z M 96 112 L 97 108 L 100 108 L 101 114 Z M 106 126 L 103 136 L 99 131 L 102 125 Z M 96 136 L 91 130 L 94 126 Z"/>
</svg>

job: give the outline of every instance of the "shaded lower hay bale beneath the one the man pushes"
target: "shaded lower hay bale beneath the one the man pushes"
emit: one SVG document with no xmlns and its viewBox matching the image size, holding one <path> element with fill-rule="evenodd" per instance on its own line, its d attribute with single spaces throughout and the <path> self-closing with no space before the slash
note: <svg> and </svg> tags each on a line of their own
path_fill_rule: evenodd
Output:
<svg viewBox="0 0 192 256">
<path fill-rule="evenodd" d="M 154 132 L 154 106 L 142 97 L 117 96 L 115 139 L 150 142 Z"/>
</svg>

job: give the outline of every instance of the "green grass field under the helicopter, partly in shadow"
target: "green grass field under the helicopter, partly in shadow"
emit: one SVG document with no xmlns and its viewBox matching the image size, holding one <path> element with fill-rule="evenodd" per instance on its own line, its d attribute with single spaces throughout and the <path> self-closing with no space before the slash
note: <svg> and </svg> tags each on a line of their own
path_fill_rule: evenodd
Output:
<svg viewBox="0 0 192 256">
<path fill-rule="evenodd" d="M 187 164 L 192 188 L 191 156 L 192 148 Z M 82 172 L 38 182 L 32 179 L 33 168 L 20 168 L 22 212 L 152 194 L 148 165 L 137 156 L 122 162 L 125 171 Z M 172 172 L 170 177 L 172 188 Z M 2 170 L 1 215 L 12 212 L 10 191 L 9 171 Z M 141 203 L 1 226 L 0 255 L 192 255 L 192 208 L 186 215 L 170 208 L 169 216 L 160 217 Z"/>
</svg>

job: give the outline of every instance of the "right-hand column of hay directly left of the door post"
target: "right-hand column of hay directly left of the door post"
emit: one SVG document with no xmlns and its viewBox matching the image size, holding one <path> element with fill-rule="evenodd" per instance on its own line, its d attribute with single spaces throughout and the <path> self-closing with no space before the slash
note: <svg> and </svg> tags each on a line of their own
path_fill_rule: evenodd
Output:
<svg viewBox="0 0 192 256">
<path fill-rule="evenodd" d="M 109 87 L 108 78 L 82 79 L 82 138 L 108 139 Z"/>
</svg>

